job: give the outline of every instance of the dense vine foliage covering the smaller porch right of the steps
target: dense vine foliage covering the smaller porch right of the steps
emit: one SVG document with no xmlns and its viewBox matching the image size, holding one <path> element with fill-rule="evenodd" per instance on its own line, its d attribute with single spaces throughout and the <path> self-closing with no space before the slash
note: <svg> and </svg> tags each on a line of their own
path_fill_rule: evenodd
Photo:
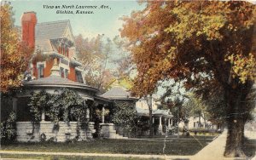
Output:
<svg viewBox="0 0 256 160">
<path fill-rule="evenodd" d="M 138 116 L 135 105 L 129 101 L 115 100 L 113 106 L 113 123 L 130 132 L 136 129 Z"/>
</svg>

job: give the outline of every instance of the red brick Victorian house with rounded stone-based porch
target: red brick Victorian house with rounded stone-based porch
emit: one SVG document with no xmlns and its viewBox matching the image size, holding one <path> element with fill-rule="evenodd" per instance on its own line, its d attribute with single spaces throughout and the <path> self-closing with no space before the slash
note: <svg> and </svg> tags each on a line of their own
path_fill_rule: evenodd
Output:
<svg viewBox="0 0 256 160">
<path fill-rule="evenodd" d="M 59 122 L 59 128 L 42 114 L 37 124 L 31 122 L 30 106 L 32 93 L 42 90 L 49 94 L 61 94 L 62 89 L 71 89 L 79 94 L 86 104 L 85 128 L 79 130 L 79 140 L 92 138 L 96 132 L 94 110 L 102 111 L 100 133 L 105 138 L 121 139 L 105 109 L 111 110 L 113 100 L 131 100 L 136 106 L 137 99 L 122 89 L 113 88 L 105 94 L 84 82 L 82 64 L 77 59 L 76 44 L 69 20 L 38 23 L 35 12 L 26 12 L 21 16 L 21 38 L 34 49 L 32 60 L 22 83 L 22 91 L 13 97 L 13 110 L 16 113 L 17 140 L 39 141 L 54 138 L 55 141 L 73 140 L 78 136 L 77 122 Z M 143 111 L 143 110 L 140 110 Z M 147 111 L 146 111 L 147 112 Z M 147 113 L 143 116 L 148 116 Z M 139 113 L 138 113 L 139 114 Z M 162 131 L 162 122 L 170 127 L 170 112 L 154 112 Z M 162 120 L 161 117 L 165 117 Z M 98 126 L 99 127 L 99 126 Z"/>
</svg>

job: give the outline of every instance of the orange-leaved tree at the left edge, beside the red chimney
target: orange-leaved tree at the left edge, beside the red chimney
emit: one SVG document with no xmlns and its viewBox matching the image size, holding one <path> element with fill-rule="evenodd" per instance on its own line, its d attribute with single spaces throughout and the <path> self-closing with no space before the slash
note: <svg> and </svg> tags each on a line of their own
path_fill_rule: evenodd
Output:
<svg viewBox="0 0 256 160">
<path fill-rule="evenodd" d="M 22 76 L 33 49 L 20 41 L 18 29 L 14 25 L 12 7 L 1 3 L 1 73 L 0 89 L 7 93 L 20 86 Z"/>
</svg>

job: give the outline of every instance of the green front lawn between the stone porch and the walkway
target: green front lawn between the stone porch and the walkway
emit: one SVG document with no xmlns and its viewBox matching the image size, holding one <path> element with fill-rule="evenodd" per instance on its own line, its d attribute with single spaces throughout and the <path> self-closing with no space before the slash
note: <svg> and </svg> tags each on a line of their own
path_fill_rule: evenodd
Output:
<svg viewBox="0 0 256 160">
<path fill-rule="evenodd" d="M 168 155 L 194 155 L 212 140 L 179 139 L 166 141 Z M 1 147 L 12 151 L 64 151 L 90 153 L 163 154 L 163 140 L 93 140 L 75 143 L 15 143 Z"/>
</svg>

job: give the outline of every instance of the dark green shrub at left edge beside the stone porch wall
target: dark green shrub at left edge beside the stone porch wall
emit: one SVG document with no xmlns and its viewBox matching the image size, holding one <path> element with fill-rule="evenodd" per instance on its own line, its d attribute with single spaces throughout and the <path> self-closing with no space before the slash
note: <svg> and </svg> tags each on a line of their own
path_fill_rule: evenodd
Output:
<svg viewBox="0 0 256 160">
<path fill-rule="evenodd" d="M 16 136 L 16 116 L 12 111 L 6 121 L 1 123 L 1 140 L 15 140 Z"/>
</svg>

